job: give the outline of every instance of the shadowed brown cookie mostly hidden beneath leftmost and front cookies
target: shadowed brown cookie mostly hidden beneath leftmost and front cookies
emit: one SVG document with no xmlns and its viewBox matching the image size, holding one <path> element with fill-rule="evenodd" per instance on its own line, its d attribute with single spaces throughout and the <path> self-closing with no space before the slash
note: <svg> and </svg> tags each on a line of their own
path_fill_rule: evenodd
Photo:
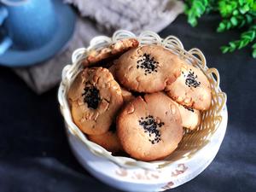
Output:
<svg viewBox="0 0 256 192">
<path fill-rule="evenodd" d="M 113 125 L 111 128 L 102 135 L 88 135 L 88 138 L 91 142 L 101 145 L 102 148 L 106 148 L 112 153 L 117 153 L 122 151 L 122 146 L 119 142 L 119 138 L 117 137 L 115 126 Z"/>
</svg>

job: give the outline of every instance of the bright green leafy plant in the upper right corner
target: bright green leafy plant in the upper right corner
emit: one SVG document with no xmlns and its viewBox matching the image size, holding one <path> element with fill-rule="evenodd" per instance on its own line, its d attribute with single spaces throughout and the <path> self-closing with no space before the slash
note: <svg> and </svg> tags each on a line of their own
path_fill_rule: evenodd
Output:
<svg viewBox="0 0 256 192">
<path fill-rule="evenodd" d="M 256 0 L 186 0 L 185 14 L 191 26 L 197 25 L 201 15 L 216 11 L 221 15 L 217 32 L 233 28 L 243 28 L 240 39 L 222 46 L 223 53 L 253 44 L 253 57 L 256 58 Z"/>
</svg>

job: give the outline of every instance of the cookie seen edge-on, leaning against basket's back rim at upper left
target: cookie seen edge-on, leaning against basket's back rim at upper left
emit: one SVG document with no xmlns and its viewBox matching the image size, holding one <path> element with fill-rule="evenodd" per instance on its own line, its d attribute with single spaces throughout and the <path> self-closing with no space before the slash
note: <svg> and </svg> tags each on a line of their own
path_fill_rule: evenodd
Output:
<svg viewBox="0 0 256 192">
<path fill-rule="evenodd" d="M 119 55 L 124 53 L 126 50 L 137 47 L 139 42 L 136 38 L 125 38 L 117 41 L 114 44 L 109 45 L 106 48 L 95 50 L 90 50 L 86 59 L 82 61 L 84 67 L 95 64 L 96 62 L 108 59 L 114 55 Z"/>
</svg>

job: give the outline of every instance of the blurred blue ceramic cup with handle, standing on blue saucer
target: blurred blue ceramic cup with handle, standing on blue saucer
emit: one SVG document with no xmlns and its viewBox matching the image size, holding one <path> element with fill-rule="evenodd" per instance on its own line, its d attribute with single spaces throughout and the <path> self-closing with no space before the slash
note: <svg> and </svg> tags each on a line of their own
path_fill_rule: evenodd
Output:
<svg viewBox="0 0 256 192">
<path fill-rule="evenodd" d="M 47 44 L 56 29 L 51 0 L 0 0 L 0 55 L 14 49 L 37 49 Z"/>
</svg>

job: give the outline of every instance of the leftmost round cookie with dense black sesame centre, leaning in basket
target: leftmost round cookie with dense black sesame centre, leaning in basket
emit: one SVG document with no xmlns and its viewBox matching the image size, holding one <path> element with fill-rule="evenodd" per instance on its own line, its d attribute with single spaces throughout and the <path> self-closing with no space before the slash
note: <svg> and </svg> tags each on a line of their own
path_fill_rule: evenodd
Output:
<svg viewBox="0 0 256 192">
<path fill-rule="evenodd" d="M 88 135 L 108 131 L 123 104 L 119 84 L 108 69 L 85 68 L 68 91 L 73 121 Z"/>
</svg>

